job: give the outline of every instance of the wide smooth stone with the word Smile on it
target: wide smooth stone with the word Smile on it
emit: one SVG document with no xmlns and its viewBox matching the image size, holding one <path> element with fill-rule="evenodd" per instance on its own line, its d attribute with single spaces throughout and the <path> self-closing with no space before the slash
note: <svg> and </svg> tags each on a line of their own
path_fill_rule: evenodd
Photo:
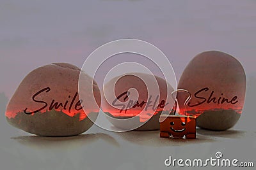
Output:
<svg viewBox="0 0 256 170">
<path fill-rule="evenodd" d="M 78 95 L 80 73 L 79 94 L 85 93 L 86 101 Z M 88 74 L 71 64 L 54 63 L 38 67 L 22 80 L 8 103 L 6 119 L 31 134 L 74 136 L 93 125 L 99 105 L 100 90 Z"/>
</svg>

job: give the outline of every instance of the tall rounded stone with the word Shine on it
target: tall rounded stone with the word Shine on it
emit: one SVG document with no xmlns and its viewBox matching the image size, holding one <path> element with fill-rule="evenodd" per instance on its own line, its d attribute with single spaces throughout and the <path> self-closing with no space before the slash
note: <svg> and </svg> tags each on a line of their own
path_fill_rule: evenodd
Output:
<svg viewBox="0 0 256 170">
<path fill-rule="evenodd" d="M 191 93 L 187 115 L 194 115 L 198 127 L 224 131 L 239 120 L 246 92 L 241 63 L 227 53 L 203 52 L 191 60 L 180 77 L 178 89 Z M 183 110 L 188 96 L 177 96 Z"/>
</svg>

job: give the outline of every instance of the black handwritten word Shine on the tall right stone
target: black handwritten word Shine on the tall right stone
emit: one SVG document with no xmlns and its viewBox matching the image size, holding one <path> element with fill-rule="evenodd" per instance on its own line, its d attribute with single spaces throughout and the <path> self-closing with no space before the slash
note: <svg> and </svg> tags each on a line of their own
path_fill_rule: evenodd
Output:
<svg viewBox="0 0 256 170">
<path fill-rule="evenodd" d="M 227 98 L 223 97 L 223 93 L 221 93 L 220 97 L 213 97 L 213 95 L 214 95 L 213 90 L 209 97 L 207 97 L 207 98 L 202 97 L 202 94 L 205 94 L 204 92 L 207 92 L 208 90 L 209 90 L 209 88 L 205 87 L 204 89 L 201 89 L 201 90 L 198 90 L 198 92 L 195 92 L 195 95 L 194 95 L 195 98 L 200 99 L 202 101 L 200 101 L 199 103 L 196 103 L 196 104 L 191 104 L 189 102 L 188 106 L 195 107 L 195 106 L 199 106 L 204 103 L 208 103 L 208 104 L 210 104 L 210 103 L 216 103 L 216 104 L 223 104 L 223 103 L 236 104 L 236 103 L 238 103 L 237 96 L 232 97 L 232 99 L 227 99 Z"/>
</svg>

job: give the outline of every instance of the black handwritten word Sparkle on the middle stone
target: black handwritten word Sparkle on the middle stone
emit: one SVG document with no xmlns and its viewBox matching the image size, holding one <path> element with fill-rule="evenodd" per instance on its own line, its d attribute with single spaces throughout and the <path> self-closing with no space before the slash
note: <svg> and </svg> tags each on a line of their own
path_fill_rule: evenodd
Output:
<svg viewBox="0 0 256 170">
<path fill-rule="evenodd" d="M 154 100 L 154 103 L 152 104 L 152 95 L 150 95 L 148 97 L 148 101 L 141 101 L 141 103 L 139 103 L 139 101 L 133 101 L 133 100 L 129 100 L 127 106 L 125 106 L 125 104 L 116 104 L 116 101 L 118 101 L 118 99 L 120 99 L 121 97 L 124 97 L 124 101 L 127 99 L 127 97 L 129 97 L 130 92 L 124 92 L 122 94 L 120 94 L 118 97 L 116 97 L 116 99 L 113 101 L 112 105 L 116 106 L 116 107 L 120 107 L 122 106 L 122 109 L 120 110 L 120 113 L 125 110 L 126 111 L 129 108 L 142 108 L 143 106 L 145 106 L 145 111 L 148 110 L 148 108 L 152 108 L 152 110 L 157 110 L 157 108 L 164 108 L 164 106 L 168 105 L 169 103 L 166 103 L 166 101 L 162 100 L 159 104 L 157 104 L 157 100 L 159 98 L 159 95 L 156 96 L 156 99 Z"/>
</svg>

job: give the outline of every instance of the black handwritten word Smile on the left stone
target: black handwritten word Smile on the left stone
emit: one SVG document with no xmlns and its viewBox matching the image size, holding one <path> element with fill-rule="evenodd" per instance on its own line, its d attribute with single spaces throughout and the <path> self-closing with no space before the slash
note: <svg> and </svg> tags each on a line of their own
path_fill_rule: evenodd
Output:
<svg viewBox="0 0 256 170">
<path fill-rule="evenodd" d="M 32 100 L 35 101 L 35 103 L 43 103 L 44 106 L 42 106 L 42 108 L 39 108 L 38 110 L 35 110 L 35 111 L 27 111 L 28 108 L 26 108 L 24 110 L 24 113 L 26 113 L 27 115 L 31 115 L 32 113 L 36 113 L 38 111 L 41 111 L 41 110 L 44 110 L 45 108 L 47 108 L 48 103 L 46 103 L 45 101 L 37 100 L 36 97 L 40 96 L 40 94 L 42 94 L 43 92 L 48 93 L 50 91 L 51 91 L 51 88 L 50 87 L 46 87 L 46 88 L 36 92 L 36 94 L 34 94 L 32 96 Z M 68 112 L 71 113 L 71 109 L 72 109 L 72 107 L 73 107 L 73 105 L 74 105 L 74 103 L 76 101 L 77 95 L 78 94 L 76 92 L 76 94 L 72 98 L 71 103 L 69 103 L 69 101 L 68 101 L 68 99 L 70 99 L 71 96 L 68 96 L 68 99 L 67 99 L 67 101 L 65 101 L 65 103 L 59 103 L 59 102 L 55 101 L 54 99 L 52 99 L 52 102 L 49 105 L 48 110 L 49 111 L 51 111 L 52 109 L 56 109 L 57 110 L 58 108 L 62 107 L 63 110 L 67 110 L 68 109 Z M 83 109 L 83 106 L 81 106 L 82 102 L 83 102 L 82 100 L 77 101 L 77 103 L 74 105 L 74 109 L 77 110 L 77 111 Z"/>
</svg>

